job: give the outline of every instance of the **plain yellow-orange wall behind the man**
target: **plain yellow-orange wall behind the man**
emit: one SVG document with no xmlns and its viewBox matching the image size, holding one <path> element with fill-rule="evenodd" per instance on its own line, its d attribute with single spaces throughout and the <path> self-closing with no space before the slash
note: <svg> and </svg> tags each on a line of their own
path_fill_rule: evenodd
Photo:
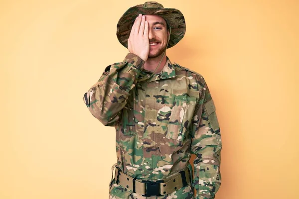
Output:
<svg viewBox="0 0 299 199">
<path fill-rule="evenodd" d="M 216 199 L 299 199 L 299 1 L 160 0 L 186 34 L 172 62 L 206 79 L 221 126 Z M 0 198 L 106 199 L 115 132 L 82 98 L 128 50 L 137 0 L 0 0 Z"/>
</svg>

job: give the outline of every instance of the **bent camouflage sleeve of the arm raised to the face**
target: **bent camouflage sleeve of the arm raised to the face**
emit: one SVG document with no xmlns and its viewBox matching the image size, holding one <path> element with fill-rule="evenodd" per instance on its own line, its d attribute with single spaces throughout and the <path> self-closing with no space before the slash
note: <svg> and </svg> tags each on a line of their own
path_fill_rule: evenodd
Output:
<svg viewBox="0 0 299 199">
<path fill-rule="evenodd" d="M 89 111 L 105 126 L 116 125 L 144 63 L 139 56 L 128 53 L 123 62 L 106 67 L 99 81 L 84 94 Z"/>
</svg>

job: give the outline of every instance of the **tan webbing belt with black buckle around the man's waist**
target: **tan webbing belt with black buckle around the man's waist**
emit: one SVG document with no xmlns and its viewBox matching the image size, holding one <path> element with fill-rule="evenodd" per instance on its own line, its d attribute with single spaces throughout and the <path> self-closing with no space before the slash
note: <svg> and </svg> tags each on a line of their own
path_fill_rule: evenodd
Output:
<svg viewBox="0 0 299 199">
<path fill-rule="evenodd" d="M 114 167 L 115 165 L 112 169 L 114 169 Z M 117 184 L 146 197 L 170 194 L 182 187 L 191 185 L 190 179 L 190 171 L 188 167 L 158 181 L 135 179 L 123 173 L 118 167 L 116 167 L 115 170 L 115 180 Z"/>
</svg>

